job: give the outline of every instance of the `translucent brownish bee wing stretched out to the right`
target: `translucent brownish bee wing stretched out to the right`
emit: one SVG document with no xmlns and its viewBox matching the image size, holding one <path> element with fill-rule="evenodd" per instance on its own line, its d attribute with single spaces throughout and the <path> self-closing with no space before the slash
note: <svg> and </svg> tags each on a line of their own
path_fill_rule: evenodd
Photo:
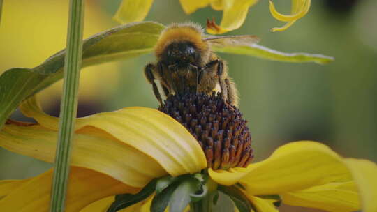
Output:
<svg viewBox="0 0 377 212">
<path fill-rule="evenodd" d="M 229 47 L 258 43 L 260 38 L 257 36 L 213 36 L 203 40 L 216 47 Z"/>
</svg>

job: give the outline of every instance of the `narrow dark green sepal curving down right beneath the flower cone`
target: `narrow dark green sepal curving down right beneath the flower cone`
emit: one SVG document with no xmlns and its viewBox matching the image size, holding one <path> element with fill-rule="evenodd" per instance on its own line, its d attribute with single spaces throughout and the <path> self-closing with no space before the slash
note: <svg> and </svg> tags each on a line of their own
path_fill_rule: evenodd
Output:
<svg viewBox="0 0 377 212">
<path fill-rule="evenodd" d="M 249 202 L 249 199 L 247 199 L 244 193 L 235 186 L 219 185 L 218 189 L 232 199 L 239 212 L 250 212 L 253 210 L 253 206 L 251 205 L 251 202 Z"/>
</svg>

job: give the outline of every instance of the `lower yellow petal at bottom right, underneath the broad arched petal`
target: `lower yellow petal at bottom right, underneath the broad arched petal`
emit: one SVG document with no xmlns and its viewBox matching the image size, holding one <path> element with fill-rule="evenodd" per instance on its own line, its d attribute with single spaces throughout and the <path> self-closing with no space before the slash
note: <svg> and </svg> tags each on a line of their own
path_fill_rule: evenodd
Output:
<svg viewBox="0 0 377 212">
<path fill-rule="evenodd" d="M 280 197 L 284 204 L 293 206 L 333 212 L 360 210 L 359 194 L 355 181 L 327 183 L 304 190 L 284 193 Z"/>
</svg>

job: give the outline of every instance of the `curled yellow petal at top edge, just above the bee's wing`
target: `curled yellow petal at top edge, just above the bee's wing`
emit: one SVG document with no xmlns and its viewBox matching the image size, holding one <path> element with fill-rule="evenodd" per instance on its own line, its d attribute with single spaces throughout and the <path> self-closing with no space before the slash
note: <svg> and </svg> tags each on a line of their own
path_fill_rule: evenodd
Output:
<svg viewBox="0 0 377 212">
<path fill-rule="evenodd" d="M 214 21 L 207 22 L 207 32 L 221 34 L 238 29 L 244 23 L 249 7 L 257 2 L 258 0 L 223 1 L 223 18 L 220 26 Z"/>
</svg>

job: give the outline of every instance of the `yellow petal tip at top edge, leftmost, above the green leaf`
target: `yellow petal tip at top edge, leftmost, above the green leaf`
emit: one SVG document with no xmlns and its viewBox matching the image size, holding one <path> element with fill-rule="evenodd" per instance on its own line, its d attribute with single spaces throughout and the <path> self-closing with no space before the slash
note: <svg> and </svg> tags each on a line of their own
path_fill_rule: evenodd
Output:
<svg viewBox="0 0 377 212">
<path fill-rule="evenodd" d="M 123 0 L 112 18 L 120 24 L 141 22 L 147 16 L 152 3 L 153 0 Z"/>
</svg>

